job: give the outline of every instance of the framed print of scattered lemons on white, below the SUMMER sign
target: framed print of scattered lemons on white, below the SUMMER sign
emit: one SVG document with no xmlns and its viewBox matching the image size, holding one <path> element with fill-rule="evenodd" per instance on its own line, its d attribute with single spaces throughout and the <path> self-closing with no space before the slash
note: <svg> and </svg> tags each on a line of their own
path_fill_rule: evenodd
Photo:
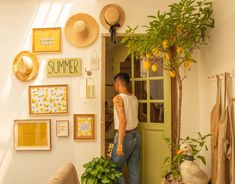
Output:
<svg viewBox="0 0 235 184">
<path fill-rule="evenodd" d="M 29 86 L 29 114 L 68 114 L 68 85 Z"/>
</svg>

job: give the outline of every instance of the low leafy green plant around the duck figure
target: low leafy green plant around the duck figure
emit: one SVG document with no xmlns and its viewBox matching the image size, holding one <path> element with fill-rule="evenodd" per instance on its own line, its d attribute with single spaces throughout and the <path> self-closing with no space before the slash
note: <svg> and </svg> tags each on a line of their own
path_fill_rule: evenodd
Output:
<svg viewBox="0 0 235 184">
<path fill-rule="evenodd" d="M 206 145 L 207 138 L 210 137 L 211 134 L 202 135 L 198 132 L 197 138 L 186 137 L 185 139 L 181 139 L 181 142 L 187 142 L 192 147 L 192 156 L 194 159 L 200 160 L 204 165 L 206 165 L 206 159 L 203 155 L 200 154 L 202 149 L 208 151 L 208 147 Z M 165 138 L 165 141 L 169 148 L 171 148 L 172 143 L 169 138 Z M 169 173 L 173 176 L 171 179 L 176 182 L 180 181 L 180 164 L 183 162 L 185 155 L 176 154 L 172 159 L 170 157 L 165 158 L 163 167 L 162 167 L 162 176 L 169 176 Z"/>
</svg>

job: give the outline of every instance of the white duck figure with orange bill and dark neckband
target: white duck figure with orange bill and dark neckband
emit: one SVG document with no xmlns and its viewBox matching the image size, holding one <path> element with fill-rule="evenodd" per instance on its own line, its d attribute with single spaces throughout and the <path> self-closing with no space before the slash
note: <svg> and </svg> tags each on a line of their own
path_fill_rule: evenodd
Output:
<svg viewBox="0 0 235 184">
<path fill-rule="evenodd" d="M 184 155 L 184 161 L 180 165 L 180 174 L 185 184 L 208 184 L 209 178 L 194 161 L 192 147 L 188 143 L 181 144 L 177 154 Z"/>
</svg>

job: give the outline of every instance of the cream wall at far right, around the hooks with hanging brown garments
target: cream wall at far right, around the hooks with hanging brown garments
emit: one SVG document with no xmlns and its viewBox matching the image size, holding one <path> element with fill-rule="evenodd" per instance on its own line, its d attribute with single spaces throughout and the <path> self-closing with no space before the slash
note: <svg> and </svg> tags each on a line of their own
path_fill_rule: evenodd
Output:
<svg viewBox="0 0 235 184">
<path fill-rule="evenodd" d="M 199 99 L 200 99 L 200 131 L 210 132 L 210 112 L 215 104 L 216 80 L 208 76 L 231 72 L 235 97 L 235 9 L 234 1 L 214 1 L 215 29 L 211 32 L 209 45 L 201 50 L 199 64 Z M 206 153 L 209 161 L 206 170 L 210 173 L 210 152 Z"/>
</svg>

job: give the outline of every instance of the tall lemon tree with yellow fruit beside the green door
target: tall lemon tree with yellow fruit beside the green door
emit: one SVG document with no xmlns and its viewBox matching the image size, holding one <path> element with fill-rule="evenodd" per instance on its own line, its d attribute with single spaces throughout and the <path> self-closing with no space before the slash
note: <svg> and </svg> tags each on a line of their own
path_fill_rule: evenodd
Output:
<svg viewBox="0 0 235 184">
<path fill-rule="evenodd" d="M 180 0 L 169 5 L 166 12 L 158 11 L 156 16 L 149 16 L 151 21 L 145 26 L 145 34 L 134 35 L 138 26 L 129 27 L 122 40 L 130 54 L 144 59 L 145 69 L 151 67 L 152 71 L 156 71 L 160 61 L 160 65 L 176 80 L 174 145 L 180 142 L 183 81 L 188 76 L 191 64 L 196 63 L 193 51 L 206 44 L 208 31 L 214 27 L 211 15 L 212 3 L 207 0 Z"/>
</svg>

